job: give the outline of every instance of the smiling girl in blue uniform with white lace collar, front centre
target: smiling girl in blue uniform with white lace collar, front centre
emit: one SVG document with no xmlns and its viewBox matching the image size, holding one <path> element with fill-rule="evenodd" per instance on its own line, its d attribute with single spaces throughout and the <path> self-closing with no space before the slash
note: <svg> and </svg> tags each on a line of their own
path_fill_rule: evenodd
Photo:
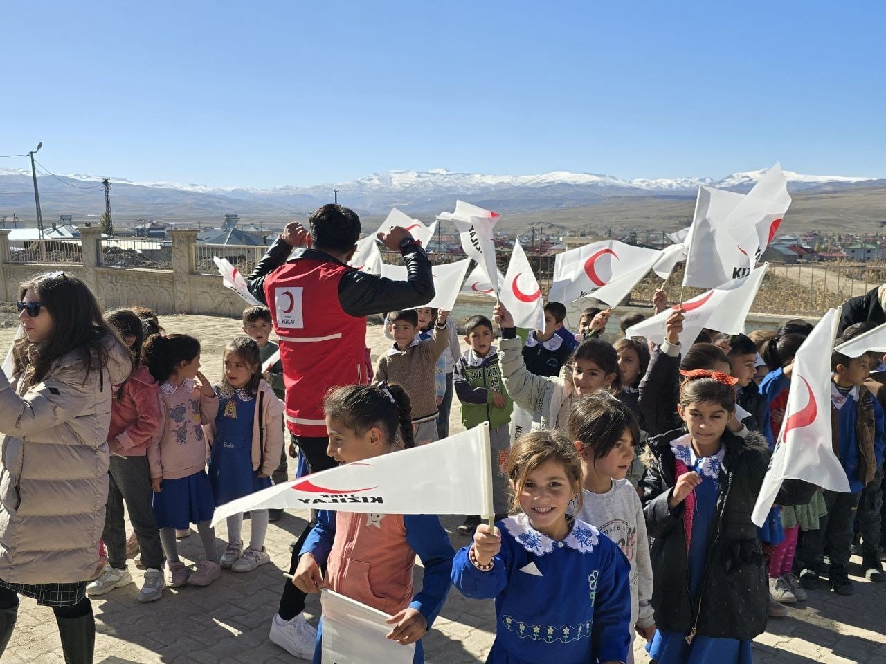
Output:
<svg viewBox="0 0 886 664">
<path fill-rule="evenodd" d="M 616 544 L 567 513 L 581 507 L 574 444 L 534 431 L 511 448 L 508 475 L 521 512 L 480 524 L 455 554 L 452 581 L 467 598 L 495 598 L 487 664 L 625 662 L 630 645 L 630 565 Z"/>
</svg>

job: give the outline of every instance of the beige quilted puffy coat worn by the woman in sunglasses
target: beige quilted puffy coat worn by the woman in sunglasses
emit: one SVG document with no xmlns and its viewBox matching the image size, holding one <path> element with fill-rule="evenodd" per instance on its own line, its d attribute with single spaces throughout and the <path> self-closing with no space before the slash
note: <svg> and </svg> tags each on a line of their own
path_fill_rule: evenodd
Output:
<svg viewBox="0 0 886 664">
<path fill-rule="evenodd" d="M 33 352 L 33 350 L 32 350 Z M 25 388 L 0 371 L 0 579 L 74 583 L 93 574 L 105 526 L 111 386 L 131 370 L 108 345 L 108 366 L 84 372 L 75 352 Z"/>
</svg>

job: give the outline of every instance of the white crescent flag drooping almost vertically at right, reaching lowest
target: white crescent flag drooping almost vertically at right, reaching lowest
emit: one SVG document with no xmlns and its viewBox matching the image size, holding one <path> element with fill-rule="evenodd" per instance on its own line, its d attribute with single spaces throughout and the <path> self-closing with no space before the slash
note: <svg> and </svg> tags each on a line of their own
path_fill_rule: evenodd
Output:
<svg viewBox="0 0 886 664">
<path fill-rule="evenodd" d="M 781 431 L 750 517 L 758 526 L 766 521 L 784 480 L 849 492 L 846 471 L 831 445 L 830 357 L 838 320 L 837 310 L 829 309 L 794 356 Z"/>
</svg>

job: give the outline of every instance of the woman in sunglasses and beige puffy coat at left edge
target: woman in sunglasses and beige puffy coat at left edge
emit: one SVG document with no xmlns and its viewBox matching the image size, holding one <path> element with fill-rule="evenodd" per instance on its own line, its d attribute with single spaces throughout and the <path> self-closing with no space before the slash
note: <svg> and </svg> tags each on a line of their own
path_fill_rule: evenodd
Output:
<svg viewBox="0 0 886 664">
<path fill-rule="evenodd" d="M 92 662 L 86 597 L 105 525 L 111 386 L 134 362 L 81 280 L 41 274 L 20 289 L 24 336 L 0 372 L 0 657 L 19 595 L 51 606 L 66 664 Z"/>
</svg>

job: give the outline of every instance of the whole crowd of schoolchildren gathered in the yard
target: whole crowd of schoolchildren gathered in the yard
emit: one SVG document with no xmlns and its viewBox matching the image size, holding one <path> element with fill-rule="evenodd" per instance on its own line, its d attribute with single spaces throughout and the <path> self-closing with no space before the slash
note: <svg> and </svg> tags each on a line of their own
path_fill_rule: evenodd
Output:
<svg viewBox="0 0 886 664">
<path fill-rule="evenodd" d="M 657 293 L 657 310 L 666 305 Z M 348 463 L 446 437 L 455 396 L 465 429 L 489 423 L 494 525 L 467 515 L 457 534 L 471 540 L 455 552 L 436 515 L 320 512 L 291 570 L 299 591 L 330 588 L 391 614 L 388 637 L 416 644 L 416 662 L 451 583 L 465 597 L 494 599 L 489 662 L 633 662 L 639 635 L 660 664 L 747 664 L 768 618 L 815 602 L 807 591 L 822 578 L 851 594 L 851 552 L 869 581 L 886 579 L 878 382 L 886 372 L 874 371 L 886 358 L 832 359 L 833 447 L 851 492 L 785 483 L 758 528 L 750 513 L 794 355 L 812 326 L 683 339 L 675 307 L 662 344 L 624 335 L 610 344 L 611 309 L 582 312 L 578 334 L 565 315 L 548 303 L 543 330 L 518 330 L 496 305 L 493 320 L 462 322 L 463 351 L 446 311 L 387 315 L 392 345 L 379 353 L 373 384 L 331 390 L 323 401 L 330 457 Z M 623 332 L 638 322 L 626 318 Z M 222 569 L 267 564 L 268 521 L 279 511 L 253 510 L 246 546 L 244 515 L 229 517 L 221 556 L 210 521 L 215 506 L 287 477 L 282 370 L 262 369 L 276 351 L 268 309 L 246 309 L 246 336 L 225 347 L 215 385 L 199 371 L 197 339 L 161 334 L 150 312 L 106 319 L 137 366 L 114 386 L 108 565 L 87 592 L 132 583 L 124 502 L 146 567 L 140 601 L 159 599 L 166 585 L 206 586 Z M 871 327 L 850 326 L 838 341 Z M 520 410 L 532 431 L 515 436 L 509 425 Z M 194 571 L 176 551 L 176 531 L 191 523 L 204 545 Z M 412 584 L 416 554 L 421 591 Z"/>
</svg>

